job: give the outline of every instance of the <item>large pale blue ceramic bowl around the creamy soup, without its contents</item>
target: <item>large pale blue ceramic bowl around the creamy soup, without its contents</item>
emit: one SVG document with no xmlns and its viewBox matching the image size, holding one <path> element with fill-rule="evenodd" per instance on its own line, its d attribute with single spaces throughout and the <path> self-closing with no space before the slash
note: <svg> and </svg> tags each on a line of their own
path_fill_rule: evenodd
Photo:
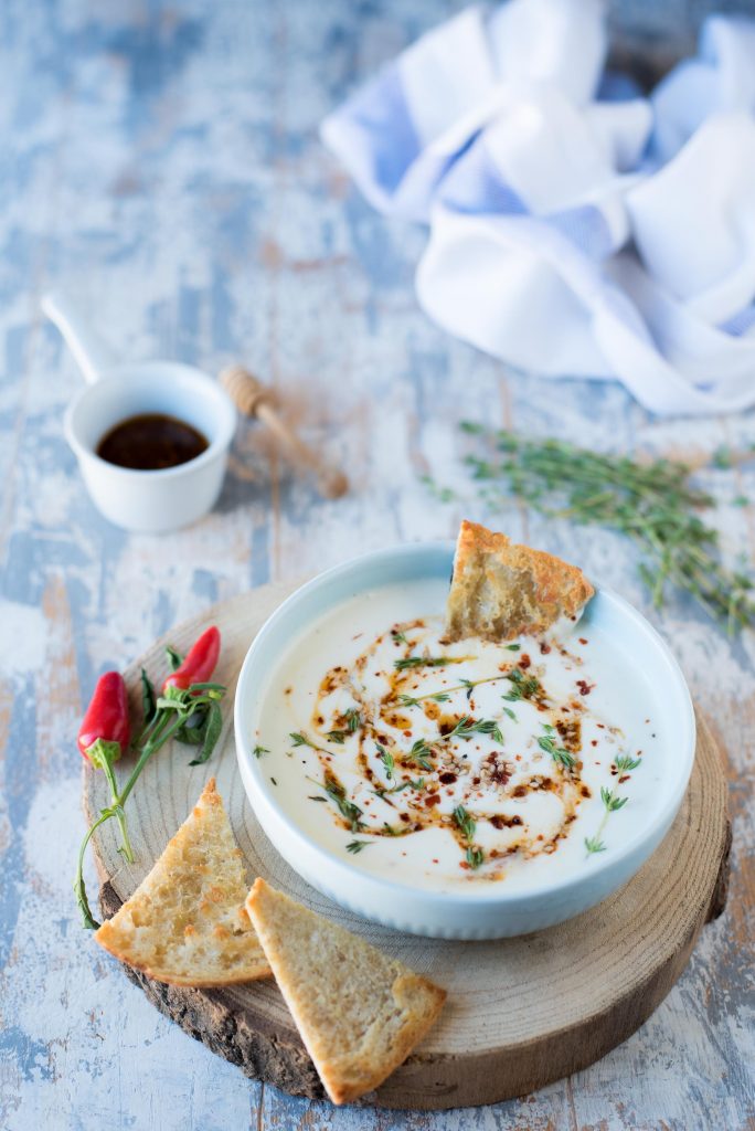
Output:
<svg viewBox="0 0 755 1131">
<path fill-rule="evenodd" d="M 344 907 L 387 926 L 445 939 L 497 939 L 553 926 L 579 915 L 630 880 L 659 846 L 677 814 L 692 771 L 695 718 L 684 676 L 658 633 L 616 594 L 599 589 L 588 622 L 616 639 L 617 648 L 642 666 L 656 689 L 656 716 L 672 734 L 672 749 L 653 756 L 663 760 L 650 818 L 632 827 L 621 846 L 592 856 L 590 866 L 536 890 L 506 891 L 505 882 L 470 884 L 459 893 L 439 892 L 368 874 L 359 857 L 344 860 L 304 832 L 276 796 L 263 760 L 252 754 L 264 689 L 270 673 L 294 638 L 306 632 L 329 608 L 382 585 L 415 579 L 449 578 L 452 543 L 406 545 L 381 550 L 328 570 L 297 589 L 266 622 L 244 661 L 235 702 L 236 752 L 246 795 L 281 856 L 319 891 Z M 441 610 L 439 610 L 440 612 Z"/>
</svg>

